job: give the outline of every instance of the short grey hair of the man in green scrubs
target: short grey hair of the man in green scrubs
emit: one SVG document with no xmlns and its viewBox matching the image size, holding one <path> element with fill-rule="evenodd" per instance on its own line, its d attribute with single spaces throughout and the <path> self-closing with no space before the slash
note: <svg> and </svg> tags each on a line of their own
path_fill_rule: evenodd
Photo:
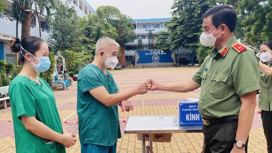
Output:
<svg viewBox="0 0 272 153">
<path fill-rule="evenodd" d="M 112 45 L 119 48 L 119 44 L 112 38 L 106 36 L 99 38 L 96 42 L 95 55 L 98 55 L 101 50 L 108 51 Z"/>
</svg>

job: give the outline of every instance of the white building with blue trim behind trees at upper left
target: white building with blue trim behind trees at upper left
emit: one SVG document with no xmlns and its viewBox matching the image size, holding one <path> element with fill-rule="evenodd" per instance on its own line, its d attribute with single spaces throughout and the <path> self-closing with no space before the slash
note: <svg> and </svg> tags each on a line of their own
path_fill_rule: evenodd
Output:
<svg viewBox="0 0 272 153">
<path fill-rule="evenodd" d="M 3 0 L 8 5 L 5 8 L 5 13 L 0 14 L 0 60 L 6 61 L 6 63 L 16 64 L 16 54 L 10 50 L 9 42 L 11 39 L 16 38 L 16 19 L 12 17 L 12 3 L 13 0 Z M 57 3 L 57 0 L 55 0 Z M 65 3 L 66 0 L 61 0 Z M 78 16 L 83 17 L 87 14 L 96 14 L 95 10 L 90 6 L 86 0 L 71 0 L 69 6 L 74 6 Z M 32 10 L 35 11 L 34 6 Z M 53 11 L 52 11 L 53 12 Z M 46 23 L 45 16 L 40 16 L 41 23 L 41 38 L 47 41 L 50 36 L 50 28 Z M 21 36 L 21 23 L 18 24 L 18 37 Z M 39 36 L 39 24 L 37 23 L 37 17 L 34 17 L 31 25 L 31 35 Z"/>
</svg>

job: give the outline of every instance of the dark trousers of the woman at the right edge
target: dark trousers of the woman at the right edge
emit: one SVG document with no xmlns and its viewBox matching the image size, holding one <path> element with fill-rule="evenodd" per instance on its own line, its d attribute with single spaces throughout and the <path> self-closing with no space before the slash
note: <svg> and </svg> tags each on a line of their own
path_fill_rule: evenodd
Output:
<svg viewBox="0 0 272 153">
<path fill-rule="evenodd" d="M 267 151 L 272 153 L 272 111 L 262 110 L 261 118 L 263 121 L 264 135 L 267 141 Z"/>
</svg>

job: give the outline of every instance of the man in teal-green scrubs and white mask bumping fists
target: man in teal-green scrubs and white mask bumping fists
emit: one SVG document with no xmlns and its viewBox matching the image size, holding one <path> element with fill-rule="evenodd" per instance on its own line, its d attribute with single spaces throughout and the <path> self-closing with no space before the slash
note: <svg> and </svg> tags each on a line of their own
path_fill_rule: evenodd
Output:
<svg viewBox="0 0 272 153">
<path fill-rule="evenodd" d="M 126 101 L 147 92 L 145 83 L 131 90 L 119 92 L 111 73 L 118 64 L 119 44 L 109 37 L 101 37 L 96 44 L 95 58 L 78 73 L 77 114 L 81 153 L 116 153 L 121 137 L 118 104 L 121 111 L 133 110 Z"/>
</svg>

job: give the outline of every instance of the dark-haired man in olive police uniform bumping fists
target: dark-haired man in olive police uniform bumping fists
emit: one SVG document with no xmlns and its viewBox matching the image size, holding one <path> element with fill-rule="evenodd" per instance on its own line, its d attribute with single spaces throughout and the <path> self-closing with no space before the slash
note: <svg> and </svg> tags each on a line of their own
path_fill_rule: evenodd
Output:
<svg viewBox="0 0 272 153">
<path fill-rule="evenodd" d="M 258 60 L 233 35 L 237 21 L 233 7 L 216 6 L 202 20 L 200 42 L 214 48 L 192 79 L 172 84 L 148 82 L 151 90 L 188 92 L 201 87 L 198 110 L 204 120 L 204 153 L 244 153 L 260 89 Z"/>
</svg>

